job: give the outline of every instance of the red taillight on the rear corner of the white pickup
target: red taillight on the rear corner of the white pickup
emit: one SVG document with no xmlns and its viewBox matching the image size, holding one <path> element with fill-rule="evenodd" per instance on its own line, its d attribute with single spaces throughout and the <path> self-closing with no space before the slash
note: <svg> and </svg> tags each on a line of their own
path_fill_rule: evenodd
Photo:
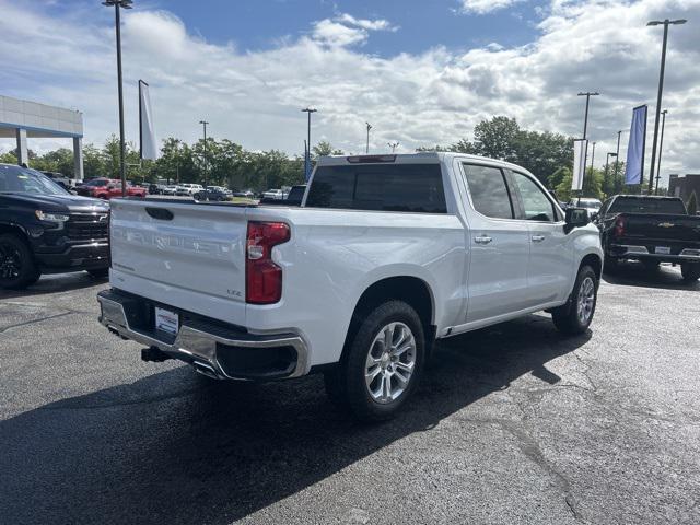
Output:
<svg viewBox="0 0 700 525">
<path fill-rule="evenodd" d="M 245 250 L 245 301 L 272 304 L 282 298 L 282 269 L 272 262 L 272 247 L 285 243 L 290 230 L 283 222 L 248 222 Z"/>
</svg>

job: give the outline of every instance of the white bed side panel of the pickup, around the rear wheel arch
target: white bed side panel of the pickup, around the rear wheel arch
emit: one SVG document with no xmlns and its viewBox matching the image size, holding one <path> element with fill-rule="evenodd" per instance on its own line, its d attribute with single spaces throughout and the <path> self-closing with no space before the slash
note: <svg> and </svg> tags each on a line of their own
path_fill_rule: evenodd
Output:
<svg viewBox="0 0 700 525">
<path fill-rule="evenodd" d="M 339 359 L 358 300 L 385 278 L 423 280 L 439 328 L 458 318 L 466 256 L 456 215 L 258 208 L 248 219 L 287 221 L 292 237 L 272 254 L 284 269 L 282 300 L 247 305 L 246 325 L 258 332 L 296 329 L 311 347 L 311 364 Z"/>
</svg>

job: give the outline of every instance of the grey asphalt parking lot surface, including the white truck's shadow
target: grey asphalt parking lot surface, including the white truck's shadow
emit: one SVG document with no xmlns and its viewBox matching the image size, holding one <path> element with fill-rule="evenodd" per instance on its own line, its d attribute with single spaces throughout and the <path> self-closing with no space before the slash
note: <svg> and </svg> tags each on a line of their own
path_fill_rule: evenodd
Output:
<svg viewBox="0 0 700 525">
<path fill-rule="evenodd" d="M 582 337 L 532 315 L 441 345 L 373 427 L 318 376 L 141 362 L 88 275 L 0 292 L 0 522 L 700 523 L 700 284 L 628 270 Z"/>
</svg>

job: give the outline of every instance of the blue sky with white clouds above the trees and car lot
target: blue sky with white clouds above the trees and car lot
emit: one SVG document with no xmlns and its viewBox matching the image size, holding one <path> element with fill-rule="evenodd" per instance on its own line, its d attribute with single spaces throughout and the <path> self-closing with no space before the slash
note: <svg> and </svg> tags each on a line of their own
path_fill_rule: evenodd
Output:
<svg viewBox="0 0 700 525">
<path fill-rule="evenodd" d="M 114 13 L 100 0 L 0 0 L 0 94 L 77 108 L 86 141 L 118 129 Z M 210 133 L 248 149 L 412 151 L 470 138 L 493 115 L 580 136 L 584 98 L 596 165 L 627 147 L 650 105 L 670 30 L 662 175 L 700 171 L 700 0 L 136 0 L 124 12 L 127 139 L 138 141 L 137 81 L 151 85 L 159 137 Z M 61 141 L 34 140 L 45 151 Z M 13 148 L 0 140 L 0 151 Z M 622 155 L 623 156 L 623 155 Z M 649 165 L 649 161 L 648 164 Z"/>
</svg>

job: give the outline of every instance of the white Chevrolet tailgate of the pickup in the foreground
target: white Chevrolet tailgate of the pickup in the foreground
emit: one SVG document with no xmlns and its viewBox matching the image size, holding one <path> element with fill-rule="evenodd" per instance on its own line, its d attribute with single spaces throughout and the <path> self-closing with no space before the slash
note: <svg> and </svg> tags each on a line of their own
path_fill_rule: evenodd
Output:
<svg viewBox="0 0 700 525">
<path fill-rule="evenodd" d="M 234 206 L 113 200 L 112 267 L 119 282 L 153 283 L 170 296 L 200 295 L 245 304 L 246 210 Z M 113 284 L 119 287 L 118 283 Z M 149 296 L 148 290 L 143 290 Z M 163 295 L 163 294 L 161 294 Z M 151 298 L 163 301 L 162 298 Z M 196 305 L 176 304 L 198 311 Z M 245 308 L 232 308 L 245 312 Z M 243 323 L 245 319 L 231 319 Z"/>
</svg>

